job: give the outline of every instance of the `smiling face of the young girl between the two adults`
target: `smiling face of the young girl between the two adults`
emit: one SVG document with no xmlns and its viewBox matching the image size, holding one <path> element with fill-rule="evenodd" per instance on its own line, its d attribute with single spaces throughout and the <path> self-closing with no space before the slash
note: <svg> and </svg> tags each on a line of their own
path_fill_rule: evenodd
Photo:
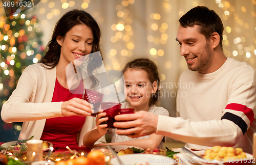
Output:
<svg viewBox="0 0 256 165">
<path fill-rule="evenodd" d="M 143 109 L 148 107 L 151 94 L 157 90 L 157 82 L 154 81 L 152 84 L 144 70 L 128 69 L 123 75 L 127 92 L 126 100 L 133 107 L 142 107 Z"/>
</svg>

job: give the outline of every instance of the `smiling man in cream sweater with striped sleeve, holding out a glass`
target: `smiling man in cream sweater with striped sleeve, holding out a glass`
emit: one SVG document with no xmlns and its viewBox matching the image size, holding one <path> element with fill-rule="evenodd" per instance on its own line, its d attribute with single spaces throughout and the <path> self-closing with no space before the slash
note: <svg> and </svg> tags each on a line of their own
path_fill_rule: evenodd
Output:
<svg viewBox="0 0 256 165">
<path fill-rule="evenodd" d="M 186 143 L 189 148 L 240 147 L 252 153 L 256 130 L 256 71 L 245 62 L 226 58 L 222 51 L 223 24 L 207 7 L 195 7 L 183 15 L 176 40 L 189 70 L 179 79 L 193 88 L 179 88 L 177 118 L 146 112 L 118 115 L 118 134 L 139 137 L 156 133 Z"/>
</svg>

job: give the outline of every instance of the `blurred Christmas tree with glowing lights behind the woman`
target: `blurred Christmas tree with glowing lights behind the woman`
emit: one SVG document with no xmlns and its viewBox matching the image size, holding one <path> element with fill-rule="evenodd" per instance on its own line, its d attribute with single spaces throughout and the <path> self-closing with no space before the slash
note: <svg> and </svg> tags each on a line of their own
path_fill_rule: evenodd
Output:
<svg viewBox="0 0 256 165">
<path fill-rule="evenodd" d="M 44 55 L 40 28 L 36 16 L 27 17 L 27 12 L 0 17 L 0 106 L 16 88 L 23 70 L 37 63 Z M 7 124 L 0 121 L 0 141 L 10 141 L 8 134 L 17 140 L 22 123 Z M 15 127 L 15 129 L 14 129 Z M 10 134 L 10 135 L 11 135 Z M 15 134 L 15 135 L 14 135 Z"/>
</svg>

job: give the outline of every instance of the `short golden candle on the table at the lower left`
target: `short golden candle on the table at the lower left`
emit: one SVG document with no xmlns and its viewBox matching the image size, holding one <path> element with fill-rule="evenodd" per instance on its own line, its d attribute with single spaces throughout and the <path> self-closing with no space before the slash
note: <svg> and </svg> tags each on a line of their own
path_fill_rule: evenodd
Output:
<svg viewBox="0 0 256 165">
<path fill-rule="evenodd" d="M 28 162 L 42 160 L 42 141 L 41 140 L 27 141 L 27 160 Z"/>
</svg>

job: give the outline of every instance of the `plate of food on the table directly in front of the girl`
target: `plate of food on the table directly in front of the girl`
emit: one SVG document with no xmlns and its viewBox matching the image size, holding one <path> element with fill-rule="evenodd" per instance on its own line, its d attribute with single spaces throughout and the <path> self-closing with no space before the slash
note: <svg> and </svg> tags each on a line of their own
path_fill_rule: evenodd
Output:
<svg viewBox="0 0 256 165">
<path fill-rule="evenodd" d="M 114 151 L 118 152 L 118 155 L 144 152 L 144 148 L 141 148 L 141 147 L 125 146 L 125 145 L 110 145 L 110 147 Z M 94 148 L 92 148 L 91 151 L 102 149 L 102 148 L 107 149 L 108 147 L 106 147 L 106 146 L 94 147 Z"/>
</svg>

